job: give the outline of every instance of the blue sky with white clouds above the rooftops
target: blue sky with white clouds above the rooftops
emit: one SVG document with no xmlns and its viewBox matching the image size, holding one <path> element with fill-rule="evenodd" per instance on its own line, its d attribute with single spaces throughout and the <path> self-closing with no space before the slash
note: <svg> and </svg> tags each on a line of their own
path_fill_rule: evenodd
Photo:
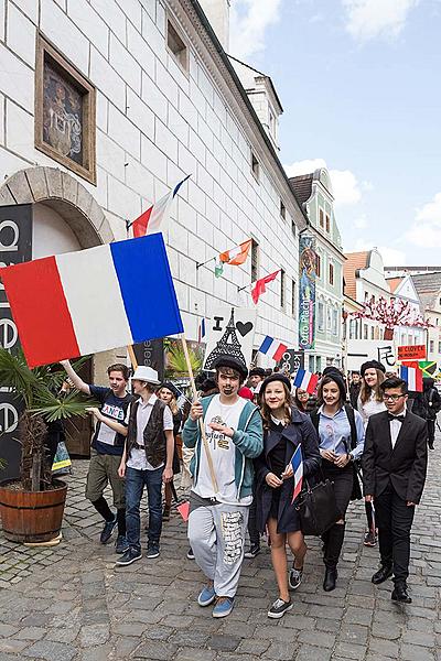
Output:
<svg viewBox="0 0 441 661">
<path fill-rule="evenodd" d="M 232 0 L 271 76 L 289 174 L 325 163 L 344 249 L 441 266 L 441 0 Z"/>
</svg>

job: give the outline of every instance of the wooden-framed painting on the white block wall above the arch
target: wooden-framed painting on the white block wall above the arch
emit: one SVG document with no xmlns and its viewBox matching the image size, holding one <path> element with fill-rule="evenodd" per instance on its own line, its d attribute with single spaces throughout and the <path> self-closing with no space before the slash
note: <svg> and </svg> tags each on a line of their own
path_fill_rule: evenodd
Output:
<svg viewBox="0 0 441 661">
<path fill-rule="evenodd" d="M 36 42 L 35 147 L 96 184 L 95 87 L 42 35 Z"/>
</svg>

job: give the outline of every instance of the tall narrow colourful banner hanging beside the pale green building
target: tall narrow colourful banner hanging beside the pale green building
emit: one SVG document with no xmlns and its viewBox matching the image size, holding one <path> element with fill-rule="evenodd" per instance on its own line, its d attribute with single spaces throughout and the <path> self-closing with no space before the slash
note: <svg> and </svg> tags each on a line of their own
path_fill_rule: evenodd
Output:
<svg viewBox="0 0 441 661">
<path fill-rule="evenodd" d="M 299 346 L 313 349 L 315 340 L 315 237 L 301 235 L 299 283 Z"/>
</svg>

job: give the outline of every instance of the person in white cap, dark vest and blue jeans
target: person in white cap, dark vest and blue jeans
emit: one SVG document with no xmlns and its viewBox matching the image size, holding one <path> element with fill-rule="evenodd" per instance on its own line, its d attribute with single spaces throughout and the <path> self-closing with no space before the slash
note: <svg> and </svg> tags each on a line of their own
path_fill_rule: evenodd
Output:
<svg viewBox="0 0 441 661">
<path fill-rule="evenodd" d="M 162 530 L 162 483 L 173 478 L 173 416 L 164 401 L 154 394 L 158 372 L 139 366 L 131 379 L 139 397 L 130 404 L 125 424 L 126 446 L 118 469 L 126 477 L 126 527 L 128 550 L 117 565 L 129 565 L 142 557 L 139 506 L 144 486 L 149 497 L 149 529 L 147 557 L 159 555 Z"/>
</svg>

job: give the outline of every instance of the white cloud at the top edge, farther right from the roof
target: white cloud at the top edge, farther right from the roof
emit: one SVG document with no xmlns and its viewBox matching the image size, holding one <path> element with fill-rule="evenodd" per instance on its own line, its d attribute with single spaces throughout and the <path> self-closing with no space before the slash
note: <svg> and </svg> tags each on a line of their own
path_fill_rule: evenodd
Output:
<svg viewBox="0 0 441 661">
<path fill-rule="evenodd" d="M 420 0 L 342 0 L 346 30 L 357 41 L 395 39 Z"/>
</svg>

